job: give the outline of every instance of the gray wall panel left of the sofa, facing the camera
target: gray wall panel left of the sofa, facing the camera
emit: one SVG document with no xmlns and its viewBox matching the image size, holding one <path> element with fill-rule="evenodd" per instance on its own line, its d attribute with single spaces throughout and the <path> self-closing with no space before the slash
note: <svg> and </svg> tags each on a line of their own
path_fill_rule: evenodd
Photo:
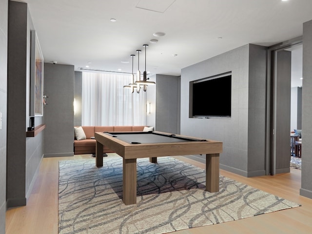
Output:
<svg viewBox="0 0 312 234">
<path fill-rule="evenodd" d="M 44 157 L 74 156 L 73 65 L 44 63 Z"/>
</svg>

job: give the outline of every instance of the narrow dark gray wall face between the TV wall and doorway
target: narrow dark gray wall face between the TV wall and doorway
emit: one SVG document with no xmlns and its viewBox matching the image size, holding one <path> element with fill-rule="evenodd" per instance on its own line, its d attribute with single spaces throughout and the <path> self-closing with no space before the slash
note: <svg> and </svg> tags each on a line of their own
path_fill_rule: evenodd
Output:
<svg viewBox="0 0 312 234">
<path fill-rule="evenodd" d="M 258 176 L 265 175 L 267 47 L 250 44 L 248 62 L 247 176 Z"/>
</svg>

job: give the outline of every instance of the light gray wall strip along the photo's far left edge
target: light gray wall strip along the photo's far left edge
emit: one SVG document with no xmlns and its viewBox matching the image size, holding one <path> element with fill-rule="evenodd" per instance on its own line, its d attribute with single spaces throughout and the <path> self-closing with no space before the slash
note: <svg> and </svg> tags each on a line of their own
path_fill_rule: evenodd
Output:
<svg viewBox="0 0 312 234">
<path fill-rule="evenodd" d="M 8 0 L 0 0 L 0 234 L 5 234 Z"/>
</svg>

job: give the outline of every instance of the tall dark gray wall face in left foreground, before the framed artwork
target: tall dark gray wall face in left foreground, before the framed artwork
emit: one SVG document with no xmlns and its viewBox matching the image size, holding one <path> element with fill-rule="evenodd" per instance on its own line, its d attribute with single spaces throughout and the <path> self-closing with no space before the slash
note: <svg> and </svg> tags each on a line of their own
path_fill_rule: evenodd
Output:
<svg viewBox="0 0 312 234">
<path fill-rule="evenodd" d="M 7 203 L 11 207 L 26 205 L 26 105 L 20 101 L 26 99 L 26 3 L 10 1 L 8 30 Z"/>
</svg>

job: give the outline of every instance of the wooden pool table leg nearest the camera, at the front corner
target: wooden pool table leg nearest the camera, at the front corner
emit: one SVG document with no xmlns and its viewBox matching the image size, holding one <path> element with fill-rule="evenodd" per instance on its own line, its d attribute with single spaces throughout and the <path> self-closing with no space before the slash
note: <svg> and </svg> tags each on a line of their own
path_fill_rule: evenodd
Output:
<svg viewBox="0 0 312 234">
<path fill-rule="evenodd" d="M 137 158 L 122 162 L 122 200 L 125 205 L 137 203 Z"/>
</svg>

